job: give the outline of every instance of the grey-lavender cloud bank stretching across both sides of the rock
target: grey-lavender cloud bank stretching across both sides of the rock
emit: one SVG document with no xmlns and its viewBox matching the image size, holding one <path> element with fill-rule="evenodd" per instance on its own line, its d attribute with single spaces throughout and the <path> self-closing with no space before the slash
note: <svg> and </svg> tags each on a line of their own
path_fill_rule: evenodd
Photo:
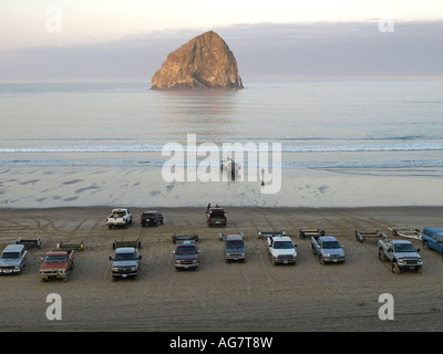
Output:
<svg viewBox="0 0 443 354">
<path fill-rule="evenodd" d="M 255 79 L 443 77 L 443 21 L 259 23 L 214 28 Z M 0 51 L 2 82 L 143 81 L 166 55 L 206 29 L 165 30 L 121 40 Z"/>
</svg>

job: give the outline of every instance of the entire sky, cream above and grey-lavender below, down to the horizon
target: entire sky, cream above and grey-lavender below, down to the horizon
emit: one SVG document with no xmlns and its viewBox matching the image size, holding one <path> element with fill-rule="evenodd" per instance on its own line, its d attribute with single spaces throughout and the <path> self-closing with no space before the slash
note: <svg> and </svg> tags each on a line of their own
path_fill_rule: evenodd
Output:
<svg viewBox="0 0 443 354">
<path fill-rule="evenodd" d="M 442 23 L 442 0 L 1 0 L 0 82 L 151 81 L 207 30 L 244 80 L 443 76 Z"/>
</svg>

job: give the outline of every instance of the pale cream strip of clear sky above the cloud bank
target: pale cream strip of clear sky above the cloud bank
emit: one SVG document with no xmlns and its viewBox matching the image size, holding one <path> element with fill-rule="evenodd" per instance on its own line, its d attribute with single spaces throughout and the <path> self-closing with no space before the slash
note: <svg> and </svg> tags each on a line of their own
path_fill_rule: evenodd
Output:
<svg viewBox="0 0 443 354">
<path fill-rule="evenodd" d="M 47 31 L 56 6 L 62 33 Z M 0 49 L 115 40 L 172 29 L 239 23 L 443 20 L 442 0 L 1 0 Z"/>
</svg>

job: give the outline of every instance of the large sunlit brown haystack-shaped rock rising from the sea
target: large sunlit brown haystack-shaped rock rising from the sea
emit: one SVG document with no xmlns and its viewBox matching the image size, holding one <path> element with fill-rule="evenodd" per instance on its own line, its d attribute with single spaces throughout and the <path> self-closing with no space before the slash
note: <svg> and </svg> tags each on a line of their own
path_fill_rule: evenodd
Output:
<svg viewBox="0 0 443 354">
<path fill-rule="evenodd" d="M 195 37 L 167 55 L 152 77 L 153 90 L 244 88 L 237 61 L 214 31 Z"/>
</svg>

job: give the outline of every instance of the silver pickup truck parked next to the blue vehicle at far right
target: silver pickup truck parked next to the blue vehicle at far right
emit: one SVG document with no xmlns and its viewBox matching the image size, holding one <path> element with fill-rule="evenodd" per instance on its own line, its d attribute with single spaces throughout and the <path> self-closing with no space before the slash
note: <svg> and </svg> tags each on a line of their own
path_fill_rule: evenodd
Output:
<svg viewBox="0 0 443 354">
<path fill-rule="evenodd" d="M 400 274 L 402 270 L 422 272 L 423 260 L 419 254 L 420 249 L 406 240 L 379 240 L 379 260 L 392 262 L 392 272 Z"/>
</svg>

